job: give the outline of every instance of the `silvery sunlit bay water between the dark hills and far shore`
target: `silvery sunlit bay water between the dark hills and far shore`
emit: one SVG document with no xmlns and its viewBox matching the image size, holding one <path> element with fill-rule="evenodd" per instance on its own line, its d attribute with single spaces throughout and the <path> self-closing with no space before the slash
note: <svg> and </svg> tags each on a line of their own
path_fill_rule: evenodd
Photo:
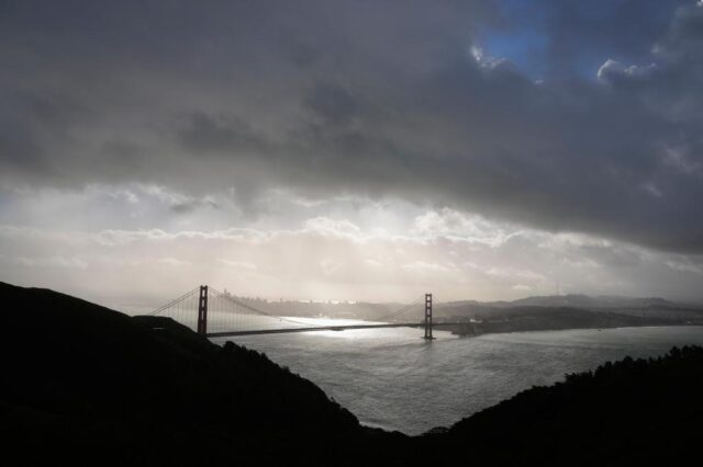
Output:
<svg viewBox="0 0 703 467">
<path fill-rule="evenodd" d="M 356 321 L 360 322 L 360 321 Z M 345 323 L 352 323 L 345 321 Z M 419 329 L 317 331 L 216 339 L 265 352 L 317 384 L 368 425 L 419 434 L 448 426 L 532 386 L 606 361 L 703 345 L 703 328 L 624 328 L 457 338 Z"/>
</svg>

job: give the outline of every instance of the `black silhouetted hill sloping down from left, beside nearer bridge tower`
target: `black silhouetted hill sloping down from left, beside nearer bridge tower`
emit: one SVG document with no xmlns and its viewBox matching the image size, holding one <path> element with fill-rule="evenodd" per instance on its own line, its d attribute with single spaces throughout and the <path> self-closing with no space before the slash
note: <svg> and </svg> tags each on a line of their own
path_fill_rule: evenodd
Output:
<svg viewBox="0 0 703 467">
<path fill-rule="evenodd" d="M 170 319 L 1 283 L 0 300 L 1 434 L 25 455 L 98 451 L 98 465 L 231 464 L 279 452 L 324 459 L 365 432 L 309 380 Z"/>
</svg>

